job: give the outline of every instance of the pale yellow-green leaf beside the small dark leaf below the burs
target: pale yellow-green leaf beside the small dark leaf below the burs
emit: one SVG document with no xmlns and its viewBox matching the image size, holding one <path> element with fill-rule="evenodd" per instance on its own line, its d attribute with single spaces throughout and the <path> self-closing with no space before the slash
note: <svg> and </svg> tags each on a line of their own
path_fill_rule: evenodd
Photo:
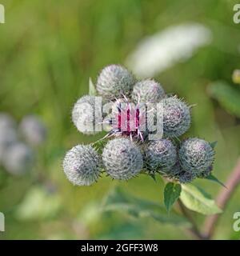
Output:
<svg viewBox="0 0 240 256">
<path fill-rule="evenodd" d="M 222 213 L 222 210 L 218 208 L 214 200 L 197 186 L 191 184 L 182 185 L 180 199 L 187 208 L 200 214 L 211 215 Z"/>
</svg>

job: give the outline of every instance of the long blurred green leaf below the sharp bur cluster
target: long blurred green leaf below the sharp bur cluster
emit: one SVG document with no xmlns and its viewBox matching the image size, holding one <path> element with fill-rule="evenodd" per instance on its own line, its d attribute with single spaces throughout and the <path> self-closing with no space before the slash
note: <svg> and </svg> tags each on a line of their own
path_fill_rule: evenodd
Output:
<svg viewBox="0 0 240 256">
<path fill-rule="evenodd" d="M 164 206 L 151 201 L 135 198 L 118 187 L 110 191 L 102 205 L 103 211 L 119 211 L 134 218 L 153 218 L 157 222 L 190 226 L 186 218 L 175 211 L 167 214 Z"/>
</svg>

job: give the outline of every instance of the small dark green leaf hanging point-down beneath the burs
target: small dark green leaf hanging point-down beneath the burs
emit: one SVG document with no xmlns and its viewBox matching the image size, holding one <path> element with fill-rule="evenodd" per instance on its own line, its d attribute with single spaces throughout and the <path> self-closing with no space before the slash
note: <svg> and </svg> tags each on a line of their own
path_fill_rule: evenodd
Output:
<svg viewBox="0 0 240 256">
<path fill-rule="evenodd" d="M 164 189 L 164 203 L 166 210 L 169 212 L 174 202 L 178 200 L 181 194 L 182 187 L 178 183 L 169 182 L 166 184 Z"/>
</svg>

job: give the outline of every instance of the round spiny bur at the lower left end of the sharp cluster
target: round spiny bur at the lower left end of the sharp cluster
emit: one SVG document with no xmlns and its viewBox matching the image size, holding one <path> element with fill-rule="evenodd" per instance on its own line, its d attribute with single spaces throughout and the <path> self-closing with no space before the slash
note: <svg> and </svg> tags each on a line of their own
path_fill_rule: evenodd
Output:
<svg viewBox="0 0 240 256">
<path fill-rule="evenodd" d="M 66 153 L 63 170 L 74 185 L 90 186 L 101 173 L 101 158 L 90 145 L 74 146 Z"/>
</svg>

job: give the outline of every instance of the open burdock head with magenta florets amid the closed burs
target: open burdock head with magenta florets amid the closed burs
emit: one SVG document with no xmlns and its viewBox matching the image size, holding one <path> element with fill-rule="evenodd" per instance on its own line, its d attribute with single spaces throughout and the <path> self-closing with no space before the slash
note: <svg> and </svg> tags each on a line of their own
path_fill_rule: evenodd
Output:
<svg viewBox="0 0 240 256">
<path fill-rule="evenodd" d="M 110 134 L 143 141 L 146 137 L 146 106 L 135 105 L 127 98 L 120 98 L 113 104 L 109 122 Z"/>
</svg>

